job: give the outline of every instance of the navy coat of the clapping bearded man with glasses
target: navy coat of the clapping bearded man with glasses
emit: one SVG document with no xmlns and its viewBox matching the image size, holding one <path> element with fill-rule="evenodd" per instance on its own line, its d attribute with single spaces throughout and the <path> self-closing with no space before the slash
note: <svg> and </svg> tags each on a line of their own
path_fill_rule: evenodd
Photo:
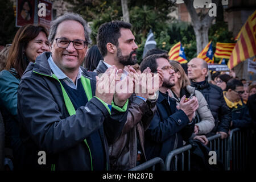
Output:
<svg viewBox="0 0 256 182">
<path fill-rule="evenodd" d="M 183 140 L 191 137 L 195 123 L 189 120 L 183 110 L 176 109 L 176 101 L 168 93 L 159 92 L 156 113 L 145 133 L 147 159 L 166 159 L 168 153 L 183 146 Z M 176 146 L 175 146 L 176 139 Z"/>
</svg>

